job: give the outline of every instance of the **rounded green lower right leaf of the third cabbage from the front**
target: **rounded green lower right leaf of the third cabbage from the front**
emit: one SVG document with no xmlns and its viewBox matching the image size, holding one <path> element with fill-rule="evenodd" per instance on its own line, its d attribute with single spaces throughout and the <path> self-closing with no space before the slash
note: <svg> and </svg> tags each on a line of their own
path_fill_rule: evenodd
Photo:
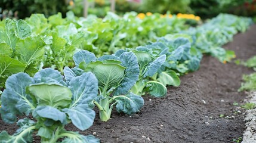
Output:
<svg viewBox="0 0 256 143">
<path fill-rule="evenodd" d="M 154 97 L 164 97 L 167 93 L 166 86 L 160 82 L 149 81 L 146 87 L 146 91 Z"/>
</svg>

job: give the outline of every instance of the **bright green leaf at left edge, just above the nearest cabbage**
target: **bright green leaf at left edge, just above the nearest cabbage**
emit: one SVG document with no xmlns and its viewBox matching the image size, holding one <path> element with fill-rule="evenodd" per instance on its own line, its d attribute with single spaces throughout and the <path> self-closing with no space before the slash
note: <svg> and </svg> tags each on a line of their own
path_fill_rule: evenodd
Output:
<svg viewBox="0 0 256 143">
<path fill-rule="evenodd" d="M 0 58 L 0 76 L 11 76 L 11 74 L 24 71 L 26 67 L 25 64 L 8 55 L 0 54 Z"/>
</svg>

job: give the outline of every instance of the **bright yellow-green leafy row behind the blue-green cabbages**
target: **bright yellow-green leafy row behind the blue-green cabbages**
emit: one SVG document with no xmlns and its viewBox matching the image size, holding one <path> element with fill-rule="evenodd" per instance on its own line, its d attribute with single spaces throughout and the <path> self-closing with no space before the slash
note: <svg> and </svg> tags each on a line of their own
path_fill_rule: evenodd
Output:
<svg viewBox="0 0 256 143">
<path fill-rule="evenodd" d="M 67 18 L 62 18 L 60 13 L 48 19 L 33 14 L 26 20 L 1 21 L 3 52 L 0 56 L 6 64 L 1 64 L 0 87 L 4 87 L 8 76 L 20 71 L 33 76 L 42 67 L 53 67 L 63 73 L 64 65 L 74 65 L 72 56 L 79 49 L 87 49 L 97 56 L 113 54 L 118 49 L 143 45 L 158 36 L 187 29 L 189 25 L 184 23 L 185 20 L 175 17 L 160 18 L 159 14 L 143 20 L 136 13 L 124 17 L 109 13 L 103 19 L 85 19 L 71 12 Z"/>
</svg>

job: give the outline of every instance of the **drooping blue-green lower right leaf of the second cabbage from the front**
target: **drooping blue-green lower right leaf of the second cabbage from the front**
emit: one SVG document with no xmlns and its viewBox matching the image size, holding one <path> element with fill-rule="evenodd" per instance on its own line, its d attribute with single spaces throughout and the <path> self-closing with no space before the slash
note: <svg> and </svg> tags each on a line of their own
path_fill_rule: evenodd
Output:
<svg viewBox="0 0 256 143">
<path fill-rule="evenodd" d="M 118 113 L 124 112 L 128 115 L 138 112 L 144 105 L 143 98 L 132 93 L 128 95 L 114 96 L 113 100 L 117 102 L 116 111 L 118 111 Z"/>
</svg>

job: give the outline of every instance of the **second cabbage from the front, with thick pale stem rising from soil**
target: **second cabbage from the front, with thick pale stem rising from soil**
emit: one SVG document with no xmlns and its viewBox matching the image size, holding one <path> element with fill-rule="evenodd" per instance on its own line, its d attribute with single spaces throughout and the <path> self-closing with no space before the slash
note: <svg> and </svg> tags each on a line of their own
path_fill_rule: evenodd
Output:
<svg viewBox="0 0 256 143">
<path fill-rule="evenodd" d="M 134 53 L 124 52 L 119 57 L 103 55 L 96 58 L 92 52 L 79 51 L 73 56 L 76 67 L 64 68 L 67 82 L 82 74 L 91 71 L 98 79 L 98 97 L 93 103 L 100 110 L 100 119 L 110 119 L 112 109 L 116 106 L 118 112 L 133 114 L 140 110 L 144 101 L 138 95 L 129 92 L 138 80 L 140 72 L 138 61 Z"/>
</svg>

